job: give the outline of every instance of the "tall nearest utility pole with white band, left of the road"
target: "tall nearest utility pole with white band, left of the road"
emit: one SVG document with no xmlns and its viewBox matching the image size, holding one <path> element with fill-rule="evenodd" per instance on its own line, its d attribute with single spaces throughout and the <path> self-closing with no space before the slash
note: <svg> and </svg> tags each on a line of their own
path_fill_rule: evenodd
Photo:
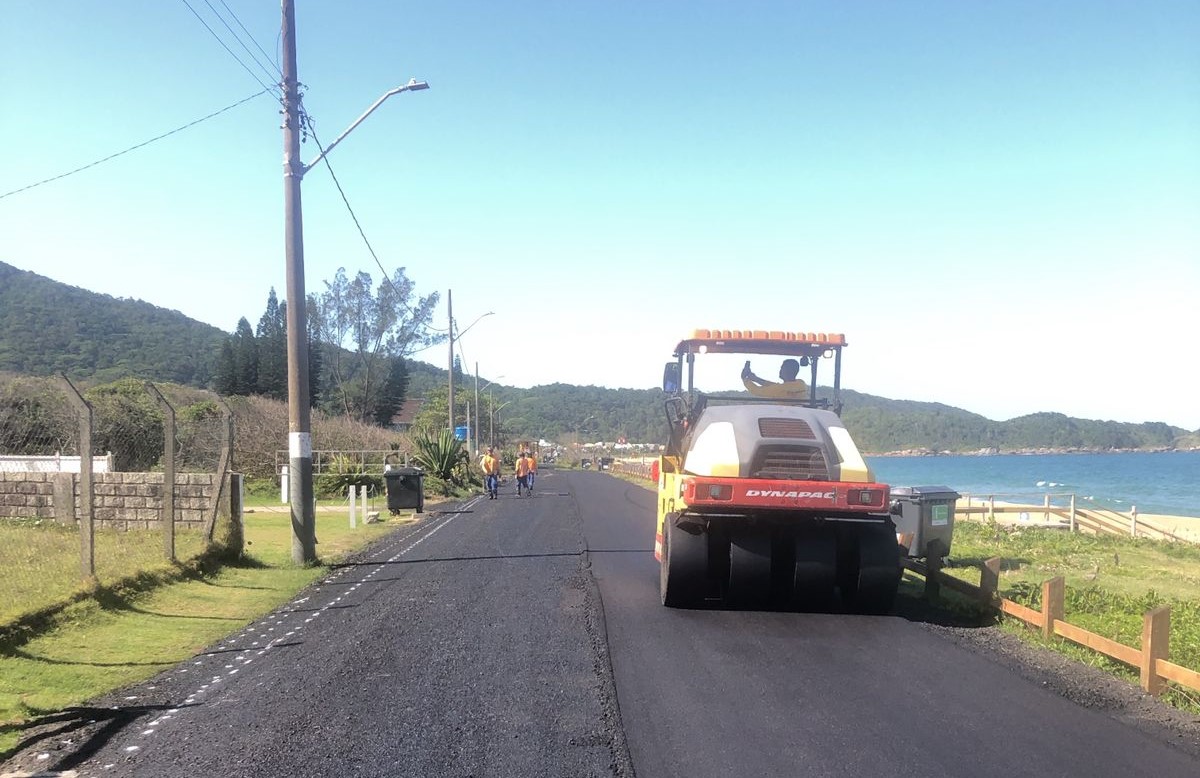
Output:
<svg viewBox="0 0 1200 778">
<path fill-rule="evenodd" d="M 317 519 L 312 490 L 312 427 L 308 388 L 308 322 L 304 288 L 304 220 L 300 181 L 300 89 L 296 74 L 294 0 L 283 4 L 283 213 L 288 300 L 288 505 L 292 561 L 317 561 Z"/>
</svg>

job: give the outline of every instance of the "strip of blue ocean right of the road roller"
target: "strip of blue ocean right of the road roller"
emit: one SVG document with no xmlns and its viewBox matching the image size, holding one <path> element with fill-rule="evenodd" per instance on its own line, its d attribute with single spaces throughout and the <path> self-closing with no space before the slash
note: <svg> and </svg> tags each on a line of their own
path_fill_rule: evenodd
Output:
<svg viewBox="0 0 1200 778">
<path fill-rule="evenodd" d="M 892 486 L 949 486 L 961 495 L 1040 503 L 1076 496 L 1082 507 L 1200 517 L 1200 451 L 868 456 Z M 1054 498 L 1054 504 L 1063 504 Z"/>
</svg>

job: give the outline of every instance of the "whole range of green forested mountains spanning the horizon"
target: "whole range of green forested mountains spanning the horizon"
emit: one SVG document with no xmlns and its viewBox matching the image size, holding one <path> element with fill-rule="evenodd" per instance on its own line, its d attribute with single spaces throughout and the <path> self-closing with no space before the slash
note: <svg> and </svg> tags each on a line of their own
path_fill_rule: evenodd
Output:
<svg viewBox="0 0 1200 778">
<path fill-rule="evenodd" d="M 247 319 L 257 319 L 251 312 Z M 136 377 L 211 387 L 221 345 L 229 335 L 178 311 L 59 283 L 0 263 L 0 371 L 65 372 L 94 383 Z M 446 370 L 408 363 L 408 396 L 442 390 Z M 457 378 L 457 377 L 456 377 Z M 516 437 L 661 442 L 666 438 L 658 389 L 606 389 L 554 383 L 532 389 L 486 387 L 498 424 Z M 474 403 L 475 379 L 456 381 L 456 406 Z M 1034 413 L 994 421 L 936 402 L 889 400 L 844 390 L 842 419 L 869 453 L 1028 449 L 1200 448 L 1200 431 L 1162 423 L 1124 424 Z M 462 411 L 460 411 L 462 412 Z M 484 423 L 486 424 L 486 423 Z"/>
</svg>

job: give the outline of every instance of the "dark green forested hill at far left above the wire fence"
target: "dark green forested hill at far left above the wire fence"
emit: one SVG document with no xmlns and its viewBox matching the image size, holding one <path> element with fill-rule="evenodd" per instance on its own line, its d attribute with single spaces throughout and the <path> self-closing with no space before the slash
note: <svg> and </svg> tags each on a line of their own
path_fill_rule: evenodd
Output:
<svg viewBox="0 0 1200 778">
<path fill-rule="evenodd" d="M 215 327 L 142 300 L 60 283 L 0 262 L 0 371 L 65 372 L 204 387 L 221 343 Z"/>
</svg>

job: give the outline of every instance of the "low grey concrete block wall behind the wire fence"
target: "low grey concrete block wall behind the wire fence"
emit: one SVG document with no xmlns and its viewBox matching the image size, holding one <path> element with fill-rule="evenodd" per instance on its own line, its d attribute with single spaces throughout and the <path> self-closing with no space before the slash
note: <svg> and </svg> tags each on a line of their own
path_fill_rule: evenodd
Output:
<svg viewBox="0 0 1200 778">
<path fill-rule="evenodd" d="M 203 526 L 214 492 L 211 473 L 175 475 L 175 522 Z M 102 527 L 150 529 L 160 523 L 162 473 L 94 473 L 92 509 Z M 0 516 L 73 522 L 80 515 L 79 475 L 0 472 Z"/>
</svg>

